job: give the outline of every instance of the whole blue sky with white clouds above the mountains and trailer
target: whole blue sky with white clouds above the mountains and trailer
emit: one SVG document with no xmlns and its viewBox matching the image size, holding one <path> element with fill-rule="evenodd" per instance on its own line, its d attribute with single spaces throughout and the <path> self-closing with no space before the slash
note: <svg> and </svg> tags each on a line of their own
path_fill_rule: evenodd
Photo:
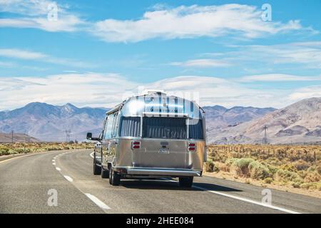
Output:
<svg viewBox="0 0 321 228">
<path fill-rule="evenodd" d="M 0 110 L 111 107 L 148 89 L 226 107 L 321 97 L 320 9 L 312 0 L 0 0 Z"/>
</svg>

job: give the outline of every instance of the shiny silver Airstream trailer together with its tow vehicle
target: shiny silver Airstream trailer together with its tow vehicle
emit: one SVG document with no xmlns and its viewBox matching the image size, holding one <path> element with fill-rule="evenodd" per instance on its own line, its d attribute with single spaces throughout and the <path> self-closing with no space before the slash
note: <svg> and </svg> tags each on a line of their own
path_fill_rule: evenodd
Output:
<svg viewBox="0 0 321 228">
<path fill-rule="evenodd" d="M 206 159 L 205 112 L 196 103 L 148 92 L 106 113 L 93 156 L 93 174 L 119 185 L 125 178 L 178 177 L 190 187 Z"/>
</svg>

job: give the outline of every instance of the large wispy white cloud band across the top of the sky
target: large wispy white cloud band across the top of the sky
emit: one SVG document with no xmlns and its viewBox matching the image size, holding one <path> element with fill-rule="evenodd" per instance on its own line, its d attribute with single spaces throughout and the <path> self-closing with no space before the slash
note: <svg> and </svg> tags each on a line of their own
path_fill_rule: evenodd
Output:
<svg viewBox="0 0 321 228">
<path fill-rule="evenodd" d="M 49 21 L 49 0 L 0 0 L 0 11 L 19 14 L 0 19 L 0 27 L 39 28 L 45 31 L 86 31 L 107 42 L 138 42 L 151 38 L 198 38 L 234 35 L 258 38 L 289 31 L 312 31 L 298 20 L 265 22 L 256 6 L 225 4 L 220 6 L 178 6 L 158 4 L 141 19 L 86 21 L 72 13 L 68 5 L 58 4 L 58 21 Z"/>
</svg>

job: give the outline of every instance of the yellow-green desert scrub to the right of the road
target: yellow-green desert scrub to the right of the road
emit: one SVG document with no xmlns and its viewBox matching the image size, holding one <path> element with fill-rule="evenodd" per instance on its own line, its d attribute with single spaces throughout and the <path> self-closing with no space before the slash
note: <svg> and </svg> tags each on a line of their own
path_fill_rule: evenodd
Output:
<svg viewBox="0 0 321 228">
<path fill-rule="evenodd" d="M 321 146 L 209 145 L 205 170 L 263 186 L 321 191 Z"/>
</svg>

